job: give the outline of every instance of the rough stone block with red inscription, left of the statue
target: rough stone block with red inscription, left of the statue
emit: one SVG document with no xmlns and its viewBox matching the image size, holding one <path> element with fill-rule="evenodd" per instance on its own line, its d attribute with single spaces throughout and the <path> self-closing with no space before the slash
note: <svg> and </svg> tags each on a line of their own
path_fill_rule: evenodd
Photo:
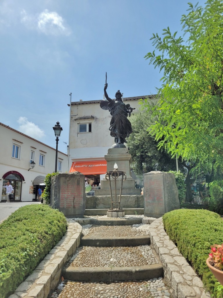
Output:
<svg viewBox="0 0 223 298">
<path fill-rule="evenodd" d="M 86 205 L 84 175 L 62 173 L 51 177 L 50 206 L 66 217 L 83 217 Z"/>
</svg>

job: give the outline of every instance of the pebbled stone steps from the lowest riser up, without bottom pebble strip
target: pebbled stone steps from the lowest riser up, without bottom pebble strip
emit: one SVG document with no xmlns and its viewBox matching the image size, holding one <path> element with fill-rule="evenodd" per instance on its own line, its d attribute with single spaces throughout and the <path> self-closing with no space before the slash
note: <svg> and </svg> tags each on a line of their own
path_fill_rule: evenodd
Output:
<svg viewBox="0 0 223 298">
<path fill-rule="evenodd" d="M 81 246 L 62 276 L 79 282 L 113 283 L 158 279 L 163 267 L 150 247 L 147 231 L 139 231 L 141 218 L 98 220 L 83 226 Z M 96 297 L 96 296 L 95 296 Z"/>
</svg>

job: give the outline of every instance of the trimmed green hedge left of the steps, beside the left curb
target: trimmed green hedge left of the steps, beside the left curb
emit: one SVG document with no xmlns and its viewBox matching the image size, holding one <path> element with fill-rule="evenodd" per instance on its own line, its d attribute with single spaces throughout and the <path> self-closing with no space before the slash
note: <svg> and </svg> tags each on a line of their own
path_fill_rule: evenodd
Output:
<svg viewBox="0 0 223 298">
<path fill-rule="evenodd" d="M 8 297 L 64 236 L 63 213 L 26 205 L 0 225 L 0 298 Z"/>
</svg>

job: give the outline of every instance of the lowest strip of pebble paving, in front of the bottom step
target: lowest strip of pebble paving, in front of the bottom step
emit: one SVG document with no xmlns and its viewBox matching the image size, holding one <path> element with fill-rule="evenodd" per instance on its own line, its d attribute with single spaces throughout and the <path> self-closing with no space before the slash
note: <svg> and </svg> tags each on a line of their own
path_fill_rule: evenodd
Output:
<svg viewBox="0 0 223 298">
<path fill-rule="evenodd" d="M 66 281 L 51 298 L 166 298 L 170 294 L 163 278 L 115 283 L 82 283 Z M 62 288 L 62 289 L 61 289 Z"/>
</svg>

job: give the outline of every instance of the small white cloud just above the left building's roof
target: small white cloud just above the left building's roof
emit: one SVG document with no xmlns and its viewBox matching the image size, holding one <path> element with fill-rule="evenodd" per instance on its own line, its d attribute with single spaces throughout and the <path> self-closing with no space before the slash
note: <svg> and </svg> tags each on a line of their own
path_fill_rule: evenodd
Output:
<svg viewBox="0 0 223 298">
<path fill-rule="evenodd" d="M 38 125 L 28 121 L 26 117 L 19 117 L 17 122 L 20 125 L 19 131 L 21 131 L 23 134 L 27 134 L 27 136 L 31 136 L 37 140 L 40 140 L 41 137 L 45 136 L 44 131 L 41 130 Z"/>
</svg>

